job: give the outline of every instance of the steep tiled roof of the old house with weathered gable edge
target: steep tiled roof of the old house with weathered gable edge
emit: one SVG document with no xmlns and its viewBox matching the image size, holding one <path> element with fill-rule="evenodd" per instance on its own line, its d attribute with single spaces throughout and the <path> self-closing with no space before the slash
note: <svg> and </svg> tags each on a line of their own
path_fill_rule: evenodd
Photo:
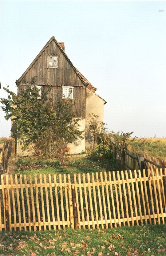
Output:
<svg viewBox="0 0 166 256">
<path fill-rule="evenodd" d="M 36 56 L 36 58 L 33 60 L 33 62 L 30 64 L 30 66 L 26 69 L 26 71 L 22 74 L 22 76 L 16 80 L 16 85 L 18 83 L 21 82 L 21 80 L 24 78 L 24 76 L 28 73 L 28 71 L 30 70 L 30 68 L 34 65 L 34 63 L 37 61 L 37 59 L 40 57 L 40 55 L 44 52 L 44 50 L 47 48 L 47 46 L 51 43 L 51 41 L 54 41 L 57 46 L 59 47 L 59 49 L 61 50 L 61 52 L 63 53 L 63 55 L 65 56 L 65 58 L 69 61 L 70 65 L 72 66 L 73 70 L 77 73 L 77 75 L 79 76 L 79 78 L 81 79 L 81 81 L 84 83 L 84 85 L 92 92 L 95 93 L 95 91 L 97 90 L 96 87 L 94 87 L 86 78 L 85 76 L 83 76 L 81 74 L 81 72 L 75 67 L 73 66 L 73 63 L 70 61 L 69 57 L 67 56 L 67 54 L 65 53 L 65 51 L 62 49 L 61 47 L 61 43 L 58 43 L 57 40 L 55 39 L 54 36 L 52 36 L 49 41 L 46 43 L 46 45 L 43 47 L 43 49 L 40 51 L 40 53 Z M 96 94 L 97 95 L 97 94 Z M 98 96 L 98 95 L 97 95 Z M 98 96 L 99 98 L 101 98 L 100 96 Z M 102 98 L 101 98 L 102 99 Z M 104 99 L 102 99 L 105 103 L 106 101 Z M 104 103 L 104 104 L 105 104 Z"/>
</svg>

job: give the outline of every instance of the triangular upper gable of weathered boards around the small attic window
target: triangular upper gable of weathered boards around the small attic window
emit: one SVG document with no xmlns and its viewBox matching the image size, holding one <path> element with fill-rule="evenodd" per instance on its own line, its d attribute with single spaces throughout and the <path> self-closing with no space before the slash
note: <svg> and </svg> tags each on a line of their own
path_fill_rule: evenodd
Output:
<svg viewBox="0 0 166 256">
<path fill-rule="evenodd" d="M 58 68 L 48 68 L 48 56 L 58 56 Z M 35 77 L 37 85 L 84 86 L 55 41 L 51 41 L 38 60 L 24 76 L 26 83 Z M 22 79 L 23 80 L 23 79 Z M 24 81 L 20 82 L 21 84 Z"/>
</svg>

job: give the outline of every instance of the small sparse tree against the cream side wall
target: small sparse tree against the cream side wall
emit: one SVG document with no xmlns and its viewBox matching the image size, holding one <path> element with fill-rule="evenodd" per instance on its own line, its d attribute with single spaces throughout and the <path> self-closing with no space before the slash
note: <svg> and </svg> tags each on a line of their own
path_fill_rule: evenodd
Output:
<svg viewBox="0 0 166 256">
<path fill-rule="evenodd" d="M 94 150 L 98 138 L 105 132 L 105 123 L 99 121 L 99 116 L 95 114 L 89 114 L 89 127 L 86 130 L 85 137 L 90 144 L 90 149 Z"/>
</svg>

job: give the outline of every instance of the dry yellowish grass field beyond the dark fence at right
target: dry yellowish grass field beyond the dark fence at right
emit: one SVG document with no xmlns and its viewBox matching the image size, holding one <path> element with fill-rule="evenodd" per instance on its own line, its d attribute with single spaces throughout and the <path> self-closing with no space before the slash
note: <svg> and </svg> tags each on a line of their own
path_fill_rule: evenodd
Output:
<svg viewBox="0 0 166 256">
<path fill-rule="evenodd" d="M 166 138 L 136 138 L 130 139 L 128 148 L 135 153 L 147 153 L 158 158 L 166 159 Z"/>
</svg>

